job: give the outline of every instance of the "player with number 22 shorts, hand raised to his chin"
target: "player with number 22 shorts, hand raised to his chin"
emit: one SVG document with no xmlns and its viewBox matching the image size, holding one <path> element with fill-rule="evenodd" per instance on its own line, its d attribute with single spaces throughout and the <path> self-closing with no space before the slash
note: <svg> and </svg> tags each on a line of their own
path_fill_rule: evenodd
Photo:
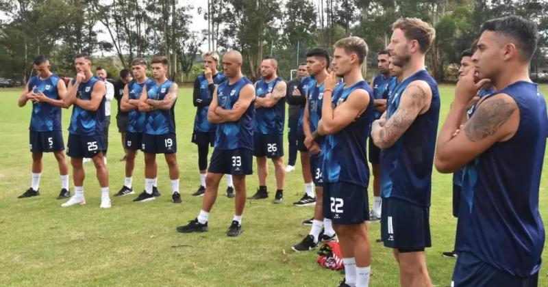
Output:
<svg viewBox="0 0 548 287">
<path fill-rule="evenodd" d="M 362 77 L 368 48 L 362 38 L 334 45 L 333 68 L 323 81 L 323 104 L 314 141 L 325 135 L 323 153 L 323 216 L 333 221 L 345 264 L 340 286 L 368 286 L 371 246 L 366 144 L 373 120 L 373 90 Z M 336 77 L 344 82 L 338 83 Z"/>
</svg>

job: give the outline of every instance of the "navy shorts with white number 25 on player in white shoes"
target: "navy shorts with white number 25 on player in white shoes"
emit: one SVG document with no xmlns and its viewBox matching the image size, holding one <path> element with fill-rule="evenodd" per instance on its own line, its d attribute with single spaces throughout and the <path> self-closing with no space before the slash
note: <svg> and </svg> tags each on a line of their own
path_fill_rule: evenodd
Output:
<svg viewBox="0 0 548 287">
<path fill-rule="evenodd" d="M 74 135 L 69 133 L 69 142 L 66 144 L 66 155 L 75 159 L 95 157 L 105 151 L 103 135 Z"/>
</svg>

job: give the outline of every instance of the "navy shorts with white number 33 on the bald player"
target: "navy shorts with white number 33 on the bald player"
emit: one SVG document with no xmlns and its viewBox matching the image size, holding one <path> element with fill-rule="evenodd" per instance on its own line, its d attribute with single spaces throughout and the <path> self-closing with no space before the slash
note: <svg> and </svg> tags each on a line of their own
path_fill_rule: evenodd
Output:
<svg viewBox="0 0 548 287">
<path fill-rule="evenodd" d="M 213 149 L 208 172 L 214 174 L 253 174 L 253 152 L 247 148 L 234 150 Z"/>
</svg>

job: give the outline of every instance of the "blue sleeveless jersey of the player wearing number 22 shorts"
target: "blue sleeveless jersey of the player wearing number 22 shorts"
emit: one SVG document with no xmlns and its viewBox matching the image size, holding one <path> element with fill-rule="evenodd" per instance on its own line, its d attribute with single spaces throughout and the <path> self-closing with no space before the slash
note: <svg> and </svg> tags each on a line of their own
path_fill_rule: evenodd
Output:
<svg viewBox="0 0 548 287">
<path fill-rule="evenodd" d="M 333 91 L 332 106 L 336 109 L 358 89 L 369 93 L 369 105 L 354 122 L 334 135 L 325 136 L 322 147 L 324 182 L 350 182 L 362 187 L 369 185 L 366 142 L 373 120 L 373 90 L 366 81 L 360 81 L 347 88 L 345 83 L 340 83 Z"/>
</svg>

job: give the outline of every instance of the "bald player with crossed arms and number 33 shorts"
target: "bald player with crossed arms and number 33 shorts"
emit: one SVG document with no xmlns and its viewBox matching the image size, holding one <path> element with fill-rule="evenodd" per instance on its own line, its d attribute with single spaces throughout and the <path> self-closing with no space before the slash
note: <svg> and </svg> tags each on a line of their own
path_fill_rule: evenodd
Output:
<svg viewBox="0 0 548 287">
<path fill-rule="evenodd" d="M 232 174 L 236 197 L 235 213 L 227 236 L 242 232 L 245 206 L 245 176 L 253 174 L 253 118 L 255 108 L 253 83 L 242 74 L 242 55 L 229 51 L 223 56 L 223 72 L 228 77 L 216 88 L 208 110 L 208 120 L 218 124 L 215 148 L 206 177 L 206 194 L 198 217 L 178 232 L 206 232 L 208 218 L 217 197 L 223 174 Z"/>
</svg>

